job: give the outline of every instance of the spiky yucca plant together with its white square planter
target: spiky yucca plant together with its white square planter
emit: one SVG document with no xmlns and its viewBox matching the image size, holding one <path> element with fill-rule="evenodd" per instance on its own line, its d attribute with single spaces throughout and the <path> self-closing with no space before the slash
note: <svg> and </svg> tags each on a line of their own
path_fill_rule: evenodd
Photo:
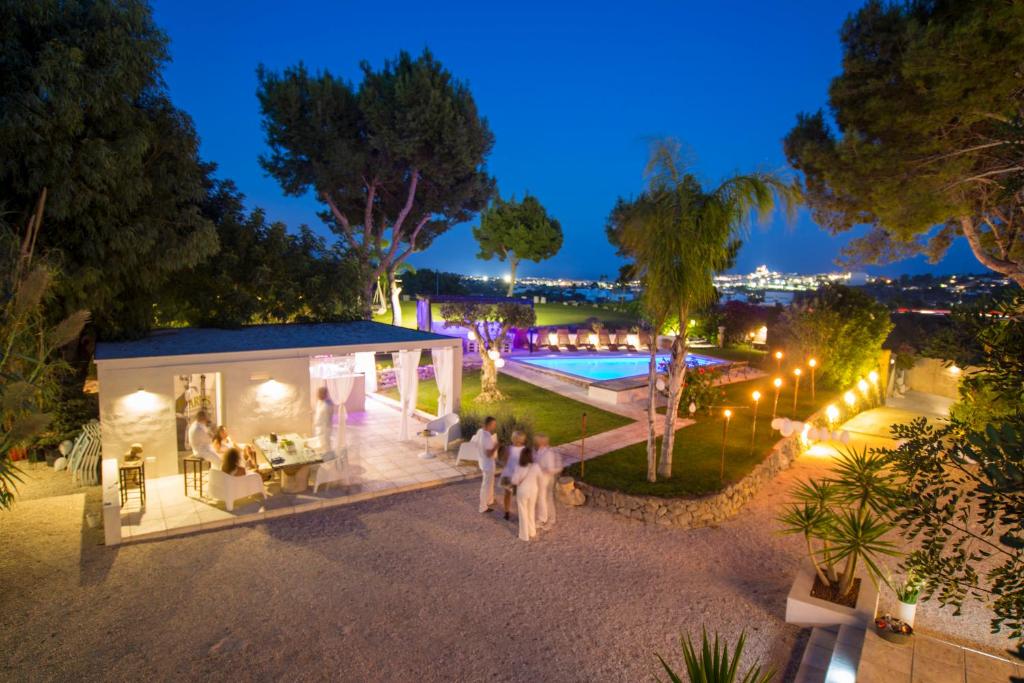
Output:
<svg viewBox="0 0 1024 683">
<path fill-rule="evenodd" d="M 786 622 L 803 626 L 866 625 L 879 600 L 882 555 L 898 554 L 885 501 L 892 477 L 881 458 L 848 450 L 833 476 L 800 482 L 779 517 L 784 533 L 804 537 L 807 562 L 786 599 Z"/>
</svg>

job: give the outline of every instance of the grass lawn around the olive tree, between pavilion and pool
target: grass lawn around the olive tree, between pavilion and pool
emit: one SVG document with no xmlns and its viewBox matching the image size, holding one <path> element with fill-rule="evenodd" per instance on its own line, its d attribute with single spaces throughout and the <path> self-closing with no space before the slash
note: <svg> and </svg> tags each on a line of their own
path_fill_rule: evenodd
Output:
<svg viewBox="0 0 1024 683">
<path fill-rule="evenodd" d="M 584 413 L 587 414 L 588 435 L 599 434 L 632 422 L 629 418 L 581 403 L 507 375 L 499 376 L 498 387 L 508 397 L 506 400 L 498 404 L 476 403 L 473 399 L 480 393 L 480 372 L 466 372 L 462 376 L 463 410 L 479 414 L 511 413 L 516 417 L 528 416 L 532 420 L 534 429 L 548 434 L 554 444 L 580 438 L 580 416 Z M 387 389 L 381 393 L 398 398 L 396 389 Z M 436 413 L 437 384 L 434 381 L 420 382 L 417 408 Z"/>
</svg>

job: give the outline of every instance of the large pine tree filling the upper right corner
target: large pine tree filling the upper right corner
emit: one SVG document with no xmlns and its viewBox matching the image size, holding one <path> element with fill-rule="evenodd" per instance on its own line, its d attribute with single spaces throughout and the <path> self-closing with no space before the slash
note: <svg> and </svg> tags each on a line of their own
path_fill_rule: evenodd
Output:
<svg viewBox="0 0 1024 683">
<path fill-rule="evenodd" d="M 844 259 L 937 261 L 963 236 L 1024 286 L 1024 4 L 871 0 L 841 40 L 830 117 L 801 114 L 784 146 L 816 221 L 870 226 Z"/>
</svg>

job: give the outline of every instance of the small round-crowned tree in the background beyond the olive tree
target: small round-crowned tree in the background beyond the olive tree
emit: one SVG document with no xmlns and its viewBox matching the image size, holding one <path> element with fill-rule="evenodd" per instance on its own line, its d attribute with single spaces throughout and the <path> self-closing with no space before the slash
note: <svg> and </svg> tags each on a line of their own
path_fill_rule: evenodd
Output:
<svg viewBox="0 0 1024 683">
<path fill-rule="evenodd" d="M 508 261 L 510 266 L 508 296 L 515 293 L 515 271 L 523 259 L 540 263 L 562 248 L 562 226 L 548 215 L 541 202 L 526 195 L 521 202 L 513 197 L 505 201 L 500 196 L 480 215 L 480 224 L 473 228 L 480 246 L 477 258 Z"/>
</svg>

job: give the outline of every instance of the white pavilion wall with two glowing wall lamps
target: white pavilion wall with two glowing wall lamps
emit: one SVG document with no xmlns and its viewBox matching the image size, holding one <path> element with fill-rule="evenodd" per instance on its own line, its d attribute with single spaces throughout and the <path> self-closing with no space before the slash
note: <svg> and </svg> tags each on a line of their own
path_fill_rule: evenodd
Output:
<svg viewBox="0 0 1024 683">
<path fill-rule="evenodd" d="M 116 370 L 100 364 L 104 459 L 121 458 L 137 441 L 147 477 L 178 472 L 174 376 L 188 373 L 220 373 L 222 420 L 236 440 L 270 431 L 307 434 L 312 428 L 306 356 Z"/>
</svg>

